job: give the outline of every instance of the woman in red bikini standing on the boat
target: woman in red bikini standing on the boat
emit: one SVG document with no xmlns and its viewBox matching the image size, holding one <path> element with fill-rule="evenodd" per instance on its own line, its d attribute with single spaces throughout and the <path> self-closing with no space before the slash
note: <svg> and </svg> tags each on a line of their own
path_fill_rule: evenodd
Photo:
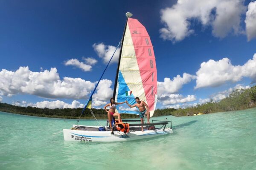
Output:
<svg viewBox="0 0 256 170">
<path fill-rule="evenodd" d="M 126 102 L 126 101 L 125 101 Z M 112 129 L 112 119 L 113 119 L 113 116 L 118 116 L 118 122 L 121 122 L 121 116 L 119 113 L 115 113 L 116 111 L 116 105 L 120 105 L 120 104 L 123 104 L 125 102 L 120 102 L 120 103 L 116 103 L 114 102 L 114 99 L 113 97 L 110 99 L 110 103 L 108 103 L 107 105 L 104 106 L 104 109 L 105 111 L 108 113 L 108 120 L 109 120 L 109 125 L 110 125 L 110 128 Z M 109 110 L 107 110 L 106 108 L 109 106 Z"/>
</svg>

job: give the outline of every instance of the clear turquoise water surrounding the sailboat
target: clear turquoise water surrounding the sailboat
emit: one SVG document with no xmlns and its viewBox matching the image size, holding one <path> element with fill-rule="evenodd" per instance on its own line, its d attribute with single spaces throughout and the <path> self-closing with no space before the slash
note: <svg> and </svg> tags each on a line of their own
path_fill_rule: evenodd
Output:
<svg viewBox="0 0 256 170">
<path fill-rule="evenodd" d="M 0 112 L 0 170 L 256 170 L 256 108 L 165 118 L 171 135 L 84 144 L 52 135 L 76 120 Z"/>
</svg>

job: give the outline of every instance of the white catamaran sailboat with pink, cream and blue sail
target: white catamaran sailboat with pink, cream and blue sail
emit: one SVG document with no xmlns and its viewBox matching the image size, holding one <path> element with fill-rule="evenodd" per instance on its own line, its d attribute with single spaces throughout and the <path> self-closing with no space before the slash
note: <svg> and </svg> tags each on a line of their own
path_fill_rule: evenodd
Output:
<svg viewBox="0 0 256 170">
<path fill-rule="evenodd" d="M 127 20 L 121 40 L 121 49 L 113 89 L 113 99 L 115 102 L 123 102 L 127 100 L 128 103 L 133 105 L 136 102 L 135 97 L 139 97 L 140 100 L 148 105 L 150 116 L 153 116 L 157 104 L 157 68 L 153 46 L 145 27 L 138 20 L 131 18 L 131 16 L 131 13 L 126 13 Z M 84 109 L 91 109 L 92 96 L 96 87 Z M 139 114 L 138 111 L 131 110 L 131 108 L 124 106 L 117 106 L 116 111 L 118 113 Z M 105 127 L 73 125 L 71 129 L 63 129 L 64 140 L 118 142 L 151 138 L 173 133 L 172 122 L 154 120 L 158 122 L 152 121 L 152 123 L 144 124 L 127 123 L 138 121 L 140 120 L 115 121 L 113 122 L 112 130 L 108 126 L 111 121 L 107 121 Z M 155 127 L 155 125 L 160 127 Z M 144 128 L 144 132 L 141 131 L 141 126 Z"/>
</svg>

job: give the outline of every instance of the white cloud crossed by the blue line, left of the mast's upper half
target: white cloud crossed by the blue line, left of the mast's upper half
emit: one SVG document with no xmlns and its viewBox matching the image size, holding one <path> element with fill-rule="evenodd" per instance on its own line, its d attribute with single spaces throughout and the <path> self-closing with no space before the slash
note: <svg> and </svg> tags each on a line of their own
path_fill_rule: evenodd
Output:
<svg viewBox="0 0 256 170">
<path fill-rule="evenodd" d="M 103 59 L 105 63 L 108 63 L 109 60 L 111 59 L 116 47 L 112 45 L 105 45 L 103 42 L 96 44 L 93 44 L 93 49 L 96 51 L 97 55 Z M 118 61 L 118 56 L 119 56 L 120 48 L 116 50 L 116 53 L 114 54 L 111 63 L 112 62 L 117 62 Z"/>
</svg>

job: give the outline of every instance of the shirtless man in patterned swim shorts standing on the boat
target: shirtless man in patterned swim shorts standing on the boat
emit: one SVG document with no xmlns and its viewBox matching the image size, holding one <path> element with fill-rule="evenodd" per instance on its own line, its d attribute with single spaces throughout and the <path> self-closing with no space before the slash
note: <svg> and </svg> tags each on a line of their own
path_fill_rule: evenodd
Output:
<svg viewBox="0 0 256 170">
<path fill-rule="evenodd" d="M 127 101 L 126 101 L 126 104 L 130 107 L 130 108 L 134 108 L 134 107 L 137 107 L 139 109 L 139 116 L 140 116 L 140 121 L 142 124 L 144 124 L 144 115 L 147 116 L 147 119 L 148 119 L 148 123 L 149 123 L 149 118 L 150 118 L 150 113 L 148 111 L 148 105 L 143 102 L 143 101 L 140 101 L 140 98 L 139 97 L 136 97 L 135 98 L 136 102 L 134 105 L 130 105 Z M 141 131 L 144 132 L 143 130 L 143 126 L 141 126 Z"/>
</svg>

